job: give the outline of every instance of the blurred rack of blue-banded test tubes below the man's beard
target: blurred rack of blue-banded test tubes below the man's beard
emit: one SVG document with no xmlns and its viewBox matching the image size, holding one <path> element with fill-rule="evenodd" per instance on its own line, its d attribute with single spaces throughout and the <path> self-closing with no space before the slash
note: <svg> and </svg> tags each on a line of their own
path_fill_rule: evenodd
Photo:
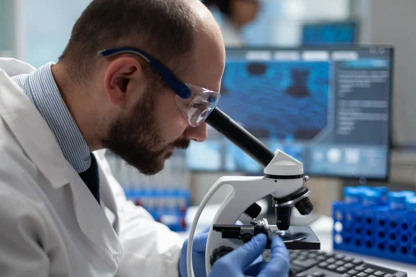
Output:
<svg viewBox="0 0 416 277">
<path fill-rule="evenodd" d="M 107 152 L 106 158 L 128 200 L 145 208 L 172 231 L 188 229 L 185 217 L 191 205 L 191 190 L 184 152 L 177 151 L 166 161 L 164 170 L 152 177 L 141 175 L 111 152 Z"/>
</svg>

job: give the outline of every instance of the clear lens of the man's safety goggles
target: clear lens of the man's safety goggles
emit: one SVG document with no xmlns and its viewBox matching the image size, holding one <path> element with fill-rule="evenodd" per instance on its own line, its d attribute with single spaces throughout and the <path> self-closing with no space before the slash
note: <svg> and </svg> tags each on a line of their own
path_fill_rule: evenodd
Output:
<svg viewBox="0 0 416 277">
<path fill-rule="evenodd" d="M 207 119 L 211 111 L 218 105 L 220 93 L 193 84 L 187 84 L 187 86 L 192 91 L 191 97 L 182 99 L 176 96 L 176 102 L 189 125 L 196 127 Z"/>
</svg>

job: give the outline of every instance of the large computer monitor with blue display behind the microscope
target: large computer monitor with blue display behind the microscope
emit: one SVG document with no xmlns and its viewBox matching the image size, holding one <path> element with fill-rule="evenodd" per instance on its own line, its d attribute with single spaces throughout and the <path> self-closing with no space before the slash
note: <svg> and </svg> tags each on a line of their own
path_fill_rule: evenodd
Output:
<svg viewBox="0 0 416 277">
<path fill-rule="evenodd" d="M 229 48 L 218 107 L 308 175 L 387 179 L 393 49 Z M 186 152 L 191 170 L 263 168 L 209 128 Z"/>
</svg>

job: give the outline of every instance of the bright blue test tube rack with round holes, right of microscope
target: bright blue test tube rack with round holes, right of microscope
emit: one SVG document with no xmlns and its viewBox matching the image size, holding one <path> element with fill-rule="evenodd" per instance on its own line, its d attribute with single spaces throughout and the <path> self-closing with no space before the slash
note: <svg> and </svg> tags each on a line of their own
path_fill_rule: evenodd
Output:
<svg viewBox="0 0 416 277">
<path fill-rule="evenodd" d="M 374 190 L 356 189 L 346 188 L 345 201 L 332 205 L 333 249 L 416 264 L 416 198 L 398 206 L 397 193 L 389 193 L 388 202 L 366 202 Z"/>
</svg>

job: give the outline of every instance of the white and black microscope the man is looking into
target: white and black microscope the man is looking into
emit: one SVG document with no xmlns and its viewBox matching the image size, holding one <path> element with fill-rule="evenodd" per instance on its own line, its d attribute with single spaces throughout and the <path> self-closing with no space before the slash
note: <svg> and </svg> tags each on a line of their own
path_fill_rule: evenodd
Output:
<svg viewBox="0 0 416 277">
<path fill-rule="evenodd" d="M 268 247 L 272 235 L 279 235 L 288 249 L 320 249 L 320 241 L 309 226 L 291 226 L 293 207 L 301 215 L 308 215 L 313 210 L 309 200 L 311 192 L 303 186 L 309 177 L 304 176 L 302 163 L 280 150 L 272 152 L 218 107 L 211 111 L 206 122 L 264 167 L 263 177 L 220 177 L 202 199 L 189 233 L 190 242 L 193 241 L 200 214 L 211 196 L 225 184 L 233 188 L 220 205 L 209 229 L 205 252 L 207 276 L 216 260 L 259 233 L 268 235 Z M 276 222 L 268 222 L 266 218 L 257 219 L 261 207 L 256 201 L 267 195 L 272 195 Z M 250 224 L 235 225 L 243 213 L 250 217 Z M 193 276 L 191 253 L 192 244 L 189 243 L 188 276 Z"/>
</svg>

